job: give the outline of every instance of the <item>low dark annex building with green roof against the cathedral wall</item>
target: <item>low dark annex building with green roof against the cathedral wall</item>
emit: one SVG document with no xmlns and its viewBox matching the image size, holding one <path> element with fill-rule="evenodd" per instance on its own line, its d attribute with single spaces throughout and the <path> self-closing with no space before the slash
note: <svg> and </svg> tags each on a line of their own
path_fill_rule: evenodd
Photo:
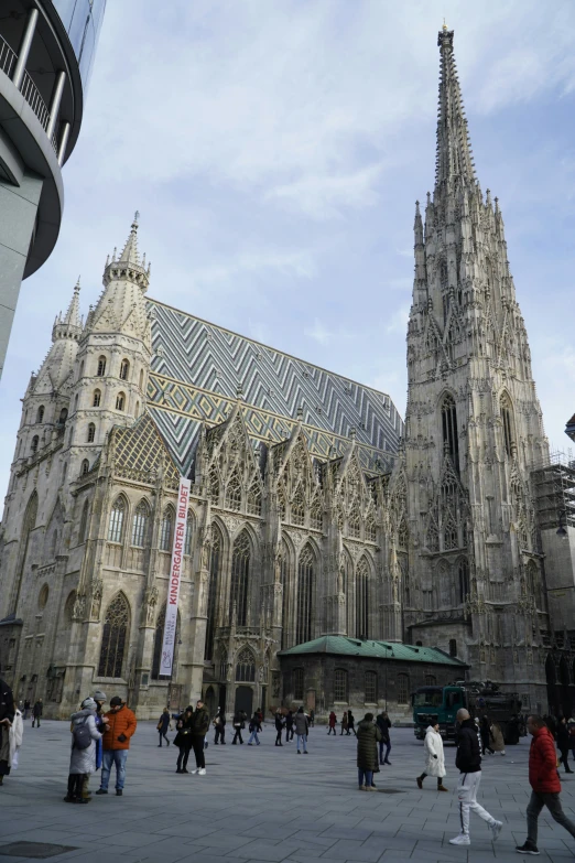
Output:
<svg viewBox="0 0 575 863">
<path fill-rule="evenodd" d="M 282 705 L 314 710 L 318 720 L 332 710 L 387 710 L 390 719 L 411 719 L 411 693 L 423 686 L 444 687 L 469 668 L 437 647 L 324 635 L 278 654 Z"/>
</svg>

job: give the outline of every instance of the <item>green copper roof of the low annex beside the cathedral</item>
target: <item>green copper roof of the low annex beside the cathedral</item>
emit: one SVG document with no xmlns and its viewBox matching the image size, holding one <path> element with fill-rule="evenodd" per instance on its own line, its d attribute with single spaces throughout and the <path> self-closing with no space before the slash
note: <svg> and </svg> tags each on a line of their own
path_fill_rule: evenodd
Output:
<svg viewBox="0 0 575 863">
<path fill-rule="evenodd" d="M 404 662 L 433 662 L 442 666 L 467 668 L 460 659 L 448 656 L 438 647 L 413 647 L 397 641 L 360 641 L 343 635 L 323 635 L 313 641 L 281 650 L 279 656 L 303 654 L 337 654 L 339 656 L 362 656 L 370 659 L 399 659 Z"/>
</svg>

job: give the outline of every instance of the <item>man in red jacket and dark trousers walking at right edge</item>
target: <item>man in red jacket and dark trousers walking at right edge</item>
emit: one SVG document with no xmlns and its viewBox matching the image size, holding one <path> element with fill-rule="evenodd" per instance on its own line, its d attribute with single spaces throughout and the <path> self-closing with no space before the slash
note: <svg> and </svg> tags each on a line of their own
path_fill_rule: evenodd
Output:
<svg viewBox="0 0 575 863">
<path fill-rule="evenodd" d="M 528 719 L 528 731 L 533 735 L 529 751 L 529 784 L 533 789 L 528 806 L 528 838 L 523 845 L 517 845 L 519 854 L 539 854 L 538 818 L 544 806 L 555 821 L 568 830 L 575 839 L 575 824 L 562 809 L 561 783 L 557 774 L 555 741 L 541 716 Z"/>
</svg>

